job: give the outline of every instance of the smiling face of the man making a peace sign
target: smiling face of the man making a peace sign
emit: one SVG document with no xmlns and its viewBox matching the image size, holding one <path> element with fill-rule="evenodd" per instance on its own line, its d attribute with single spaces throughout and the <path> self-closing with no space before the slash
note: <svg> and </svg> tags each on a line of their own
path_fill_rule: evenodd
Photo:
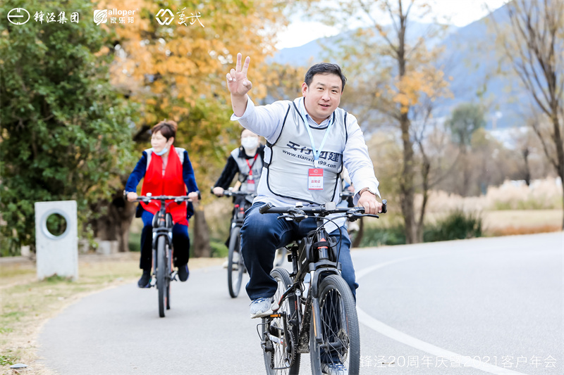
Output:
<svg viewBox="0 0 564 375">
<path fill-rule="evenodd" d="M 325 120 L 341 103 L 343 94 L 341 77 L 334 74 L 317 74 L 312 83 L 302 83 L 302 95 L 305 98 L 305 109 L 318 124 Z"/>
</svg>

